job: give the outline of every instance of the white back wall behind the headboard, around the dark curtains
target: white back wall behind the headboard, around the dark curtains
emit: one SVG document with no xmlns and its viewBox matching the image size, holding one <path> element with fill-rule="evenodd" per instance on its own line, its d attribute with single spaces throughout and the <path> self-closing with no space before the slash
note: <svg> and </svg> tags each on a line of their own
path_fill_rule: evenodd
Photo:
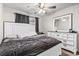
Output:
<svg viewBox="0 0 79 59">
<path fill-rule="evenodd" d="M 12 9 L 12 8 L 8 8 L 8 7 L 4 7 L 3 8 L 3 21 L 15 21 L 15 14 L 14 13 L 20 13 L 20 14 L 24 14 L 24 15 L 29 15 L 25 12 L 16 10 L 16 9 Z M 30 15 L 32 17 L 35 17 L 34 15 Z M 42 31 L 42 20 L 41 18 L 39 18 L 39 30 L 40 32 Z"/>
</svg>

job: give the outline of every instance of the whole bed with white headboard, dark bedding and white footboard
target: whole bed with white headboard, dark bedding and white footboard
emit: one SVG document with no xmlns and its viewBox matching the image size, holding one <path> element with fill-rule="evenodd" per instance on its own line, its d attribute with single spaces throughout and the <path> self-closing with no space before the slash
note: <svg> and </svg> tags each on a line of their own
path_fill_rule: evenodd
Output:
<svg viewBox="0 0 79 59">
<path fill-rule="evenodd" d="M 58 56 L 61 42 L 46 35 L 37 35 L 30 24 L 4 22 L 0 56 Z"/>
</svg>

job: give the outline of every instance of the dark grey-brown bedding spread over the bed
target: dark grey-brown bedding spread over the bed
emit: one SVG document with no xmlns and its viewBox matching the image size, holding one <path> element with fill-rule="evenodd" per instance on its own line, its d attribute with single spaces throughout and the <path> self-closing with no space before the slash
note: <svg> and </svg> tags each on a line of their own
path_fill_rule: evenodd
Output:
<svg viewBox="0 0 79 59">
<path fill-rule="evenodd" d="M 9 40 L 0 45 L 0 56 L 36 56 L 59 43 L 57 39 L 45 35 Z"/>
</svg>

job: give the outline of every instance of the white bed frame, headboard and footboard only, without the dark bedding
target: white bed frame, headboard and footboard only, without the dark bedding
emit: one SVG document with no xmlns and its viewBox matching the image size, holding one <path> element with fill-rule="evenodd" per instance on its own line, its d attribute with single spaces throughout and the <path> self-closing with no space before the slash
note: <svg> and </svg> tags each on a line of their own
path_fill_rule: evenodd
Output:
<svg viewBox="0 0 79 59">
<path fill-rule="evenodd" d="M 29 26 L 31 26 L 31 27 L 29 27 Z M 13 29 L 14 30 L 17 29 L 17 30 L 14 31 Z M 21 30 L 19 30 L 19 29 L 21 29 Z M 34 26 L 32 26 L 32 25 L 22 24 L 22 23 L 18 24 L 18 23 L 12 23 L 12 22 L 4 22 L 3 37 L 9 36 L 10 33 L 12 35 L 21 34 L 21 33 L 28 34 L 25 29 L 27 29 L 27 32 L 35 31 Z M 37 56 L 59 56 L 59 55 L 61 55 L 61 43 L 46 50 L 45 52 L 38 54 Z"/>
</svg>

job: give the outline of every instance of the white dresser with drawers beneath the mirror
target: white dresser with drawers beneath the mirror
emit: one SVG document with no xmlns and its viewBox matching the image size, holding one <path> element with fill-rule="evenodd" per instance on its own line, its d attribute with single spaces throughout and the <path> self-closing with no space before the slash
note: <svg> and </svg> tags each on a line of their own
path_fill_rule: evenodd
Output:
<svg viewBox="0 0 79 59">
<path fill-rule="evenodd" d="M 77 33 L 53 32 L 49 31 L 48 36 L 62 41 L 62 47 L 66 50 L 77 52 Z"/>
</svg>

